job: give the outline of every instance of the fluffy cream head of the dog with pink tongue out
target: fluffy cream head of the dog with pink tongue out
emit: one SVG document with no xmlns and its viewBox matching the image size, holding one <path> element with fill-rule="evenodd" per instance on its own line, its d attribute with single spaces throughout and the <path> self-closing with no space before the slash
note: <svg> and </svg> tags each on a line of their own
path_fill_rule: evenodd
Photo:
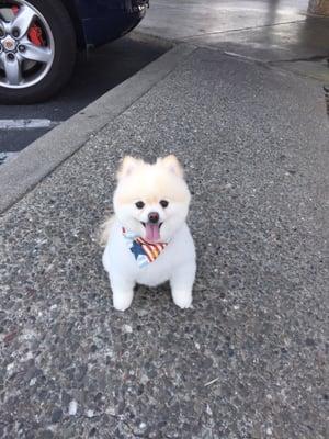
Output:
<svg viewBox="0 0 329 439">
<path fill-rule="evenodd" d="M 117 172 L 114 212 L 122 226 L 149 243 L 168 241 L 185 222 L 190 192 L 178 159 L 154 165 L 125 157 Z"/>
</svg>

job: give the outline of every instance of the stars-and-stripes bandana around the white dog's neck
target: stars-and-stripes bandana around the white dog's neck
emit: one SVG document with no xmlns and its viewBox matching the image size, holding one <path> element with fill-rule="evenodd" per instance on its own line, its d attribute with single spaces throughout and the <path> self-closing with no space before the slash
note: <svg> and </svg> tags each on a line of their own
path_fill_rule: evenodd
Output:
<svg viewBox="0 0 329 439">
<path fill-rule="evenodd" d="M 154 262 L 168 245 L 168 243 L 148 243 L 133 232 L 126 232 L 125 228 L 122 229 L 122 233 L 139 268 L 147 267 Z"/>
</svg>

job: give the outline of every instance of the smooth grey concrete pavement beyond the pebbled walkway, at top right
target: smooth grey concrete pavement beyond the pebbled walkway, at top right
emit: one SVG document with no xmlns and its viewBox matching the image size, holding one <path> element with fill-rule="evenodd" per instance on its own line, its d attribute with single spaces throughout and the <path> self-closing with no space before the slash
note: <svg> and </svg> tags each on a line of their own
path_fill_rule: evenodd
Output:
<svg viewBox="0 0 329 439">
<path fill-rule="evenodd" d="M 138 32 L 264 61 L 329 56 L 329 19 L 307 0 L 155 0 Z"/>
</svg>

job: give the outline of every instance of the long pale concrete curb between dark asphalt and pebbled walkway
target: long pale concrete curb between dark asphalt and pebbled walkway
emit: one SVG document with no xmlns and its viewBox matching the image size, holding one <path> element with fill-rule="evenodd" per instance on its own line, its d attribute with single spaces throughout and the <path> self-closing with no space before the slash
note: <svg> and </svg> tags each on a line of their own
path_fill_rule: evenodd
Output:
<svg viewBox="0 0 329 439">
<path fill-rule="evenodd" d="M 195 48 L 190 44 L 174 46 L 133 77 L 33 142 L 13 160 L 2 165 L 0 213 L 10 209 L 41 180 L 78 151 L 91 135 L 101 131 L 147 93 Z"/>
</svg>

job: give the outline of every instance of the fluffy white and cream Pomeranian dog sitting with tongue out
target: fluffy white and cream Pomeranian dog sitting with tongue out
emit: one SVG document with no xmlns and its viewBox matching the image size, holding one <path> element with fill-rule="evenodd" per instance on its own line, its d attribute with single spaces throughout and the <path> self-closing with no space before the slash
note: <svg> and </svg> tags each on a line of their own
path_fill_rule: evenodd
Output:
<svg viewBox="0 0 329 439">
<path fill-rule="evenodd" d="M 192 304 L 195 249 L 185 223 L 191 195 L 178 159 L 154 165 L 125 157 L 117 172 L 114 216 L 103 226 L 103 266 L 113 305 L 127 309 L 136 283 L 156 286 L 170 281 L 173 302 Z"/>
</svg>

